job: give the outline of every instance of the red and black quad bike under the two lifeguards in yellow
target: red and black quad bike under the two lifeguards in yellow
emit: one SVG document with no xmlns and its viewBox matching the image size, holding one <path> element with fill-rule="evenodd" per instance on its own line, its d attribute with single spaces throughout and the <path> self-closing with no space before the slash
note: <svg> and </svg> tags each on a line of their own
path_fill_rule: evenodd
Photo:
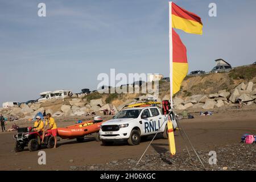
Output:
<svg viewBox="0 0 256 182">
<path fill-rule="evenodd" d="M 37 151 L 41 148 L 42 132 L 33 131 L 32 127 L 19 127 L 18 132 L 14 134 L 15 152 L 21 152 L 24 150 L 24 147 L 28 147 L 30 151 Z M 44 137 L 44 143 L 47 148 L 54 147 L 55 141 L 52 133 L 49 132 Z"/>
</svg>

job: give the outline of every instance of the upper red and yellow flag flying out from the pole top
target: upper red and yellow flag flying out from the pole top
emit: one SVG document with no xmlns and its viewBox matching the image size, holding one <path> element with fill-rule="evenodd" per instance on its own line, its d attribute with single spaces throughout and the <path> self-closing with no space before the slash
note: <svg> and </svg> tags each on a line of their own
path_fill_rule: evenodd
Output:
<svg viewBox="0 0 256 182">
<path fill-rule="evenodd" d="M 177 28 L 189 34 L 203 34 L 201 18 L 194 13 L 182 9 L 172 2 L 172 28 Z"/>
</svg>

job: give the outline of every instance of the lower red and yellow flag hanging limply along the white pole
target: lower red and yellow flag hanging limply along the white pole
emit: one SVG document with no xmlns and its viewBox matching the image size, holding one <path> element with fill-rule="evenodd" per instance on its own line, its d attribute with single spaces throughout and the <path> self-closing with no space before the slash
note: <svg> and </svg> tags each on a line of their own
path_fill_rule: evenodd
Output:
<svg viewBox="0 0 256 182">
<path fill-rule="evenodd" d="M 188 73 L 187 49 L 180 36 L 172 28 L 172 93 L 180 90 L 181 82 Z"/>
</svg>

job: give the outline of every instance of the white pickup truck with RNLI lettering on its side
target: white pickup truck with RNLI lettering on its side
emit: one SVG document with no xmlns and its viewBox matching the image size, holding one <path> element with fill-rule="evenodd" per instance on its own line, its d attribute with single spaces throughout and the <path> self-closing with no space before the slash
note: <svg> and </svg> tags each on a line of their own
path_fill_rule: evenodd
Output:
<svg viewBox="0 0 256 182">
<path fill-rule="evenodd" d="M 174 114 L 170 112 L 170 116 L 176 129 Z M 168 115 L 162 115 L 161 109 L 156 106 L 123 109 L 113 119 L 102 123 L 100 139 L 103 145 L 110 145 L 117 140 L 126 140 L 130 145 L 137 145 L 141 142 L 141 137 L 157 132 L 163 133 L 163 137 L 167 139 L 167 122 Z"/>
</svg>

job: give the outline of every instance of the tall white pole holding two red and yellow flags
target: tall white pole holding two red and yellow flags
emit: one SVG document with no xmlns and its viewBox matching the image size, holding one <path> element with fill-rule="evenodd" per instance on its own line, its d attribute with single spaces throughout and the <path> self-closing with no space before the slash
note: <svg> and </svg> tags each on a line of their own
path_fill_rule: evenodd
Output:
<svg viewBox="0 0 256 182">
<path fill-rule="evenodd" d="M 169 2 L 169 51 L 170 51 L 170 102 L 171 109 L 174 109 L 172 104 L 172 93 L 173 93 L 173 84 L 172 84 L 172 2 Z"/>
</svg>

